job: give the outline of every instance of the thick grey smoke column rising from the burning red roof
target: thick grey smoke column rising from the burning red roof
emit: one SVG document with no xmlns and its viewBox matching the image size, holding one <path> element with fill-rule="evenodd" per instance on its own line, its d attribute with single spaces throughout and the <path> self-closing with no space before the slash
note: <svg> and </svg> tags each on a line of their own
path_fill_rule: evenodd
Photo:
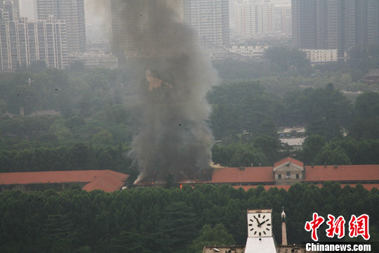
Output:
<svg viewBox="0 0 379 253">
<path fill-rule="evenodd" d="M 131 65 L 140 72 L 143 110 L 129 153 L 140 169 L 136 182 L 164 179 L 169 172 L 175 180 L 202 179 L 211 162 L 205 96 L 218 75 L 180 20 L 182 7 L 173 2 L 124 1 L 126 42 L 138 56 Z"/>
</svg>

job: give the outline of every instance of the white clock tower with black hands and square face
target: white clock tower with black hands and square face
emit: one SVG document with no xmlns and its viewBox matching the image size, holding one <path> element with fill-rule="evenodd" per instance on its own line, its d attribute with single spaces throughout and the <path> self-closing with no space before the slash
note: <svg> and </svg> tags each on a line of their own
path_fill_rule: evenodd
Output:
<svg viewBox="0 0 379 253">
<path fill-rule="evenodd" d="M 248 209 L 245 253 L 276 253 L 272 235 L 272 209 Z"/>
</svg>

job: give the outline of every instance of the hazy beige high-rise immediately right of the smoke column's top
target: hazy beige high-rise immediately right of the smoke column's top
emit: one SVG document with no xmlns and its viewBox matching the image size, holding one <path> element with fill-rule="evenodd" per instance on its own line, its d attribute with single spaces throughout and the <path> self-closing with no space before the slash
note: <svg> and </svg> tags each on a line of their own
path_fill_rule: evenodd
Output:
<svg viewBox="0 0 379 253">
<path fill-rule="evenodd" d="M 202 46 L 230 44 L 228 0 L 183 0 L 183 13 Z"/>
</svg>

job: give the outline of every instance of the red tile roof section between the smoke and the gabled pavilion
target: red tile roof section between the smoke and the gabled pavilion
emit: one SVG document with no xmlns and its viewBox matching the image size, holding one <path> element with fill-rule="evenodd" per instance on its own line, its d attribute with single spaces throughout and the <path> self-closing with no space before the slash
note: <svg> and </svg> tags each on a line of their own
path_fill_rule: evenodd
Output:
<svg viewBox="0 0 379 253">
<path fill-rule="evenodd" d="M 272 167 L 222 168 L 213 172 L 209 183 L 274 182 Z"/>
</svg>

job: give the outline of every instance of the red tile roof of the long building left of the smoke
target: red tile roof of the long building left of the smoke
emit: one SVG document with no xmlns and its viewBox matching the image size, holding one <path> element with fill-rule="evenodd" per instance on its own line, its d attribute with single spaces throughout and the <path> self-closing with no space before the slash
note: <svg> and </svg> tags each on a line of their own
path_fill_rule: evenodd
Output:
<svg viewBox="0 0 379 253">
<path fill-rule="evenodd" d="M 115 186 L 119 186 L 121 183 L 124 185 L 128 177 L 129 175 L 111 170 L 13 172 L 0 173 L 0 185 L 93 182 L 91 187 L 88 186 L 88 189 L 107 191 L 108 189 L 115 188 Z M 102 188 L 96 188 L 100 186 Z"/>
</svg>

